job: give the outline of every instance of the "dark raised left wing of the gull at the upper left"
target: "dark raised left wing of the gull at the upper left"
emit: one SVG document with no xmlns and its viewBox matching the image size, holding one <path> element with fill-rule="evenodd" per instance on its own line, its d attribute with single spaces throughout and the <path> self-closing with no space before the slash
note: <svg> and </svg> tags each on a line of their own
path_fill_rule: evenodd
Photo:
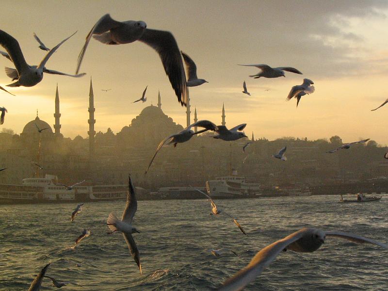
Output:
<svg viewBox="0 0 388 291">
<path fill-rule="evenodd" d="M 7 32 L 0 30 L 0 45 L 8 52 L 12 63 L 16 66 L 17 74 L 20 76 L 23 71 L 29 70 L 29 65 L 24 59 L 17 40 Z"/>
</svg>

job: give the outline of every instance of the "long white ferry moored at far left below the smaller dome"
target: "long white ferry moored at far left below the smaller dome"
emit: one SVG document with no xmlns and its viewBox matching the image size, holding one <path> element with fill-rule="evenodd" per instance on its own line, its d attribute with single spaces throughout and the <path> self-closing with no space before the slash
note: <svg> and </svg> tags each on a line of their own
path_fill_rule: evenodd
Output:
<svg viewBox="0 0 388 291">
<path fill-rule="evenodd" d="M 22 184 L 0 184 L 0 204 L 126 200 L 128 185 L 57 185 L 58 178 L 25 178 Z"/>
</svg>

